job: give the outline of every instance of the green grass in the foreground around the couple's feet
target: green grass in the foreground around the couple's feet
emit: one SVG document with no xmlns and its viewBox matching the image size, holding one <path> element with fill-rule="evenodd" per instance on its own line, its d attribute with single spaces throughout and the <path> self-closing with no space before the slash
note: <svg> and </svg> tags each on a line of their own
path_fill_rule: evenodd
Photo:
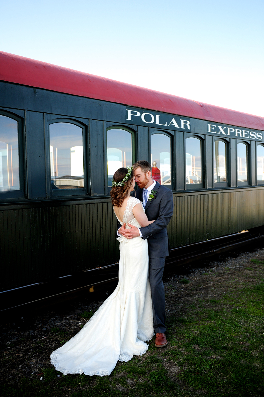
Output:
<svg viewBox="0 0 264 397">
<path fill-rule="evenodd" d="M 111 376 L 102 378 L 64 376 L 53 367 L 42 368 L 42 381 L 40 376 L 21 378 L 15 386 L 2 386 L 0 395 L 264 395 L 264 280 L 261 279 L 261 262 L 252 261 L 252 270 L 245 270 L 243 276 L 240 275 L 241 279 L 237 278 L 237 274 L 233 279 L 228 276 L 225 294 L 218 294 L 217 299 L 206 296 L 203 299 L 194 298 L 192 304 L 186 305 L 184 313 L 171 315 L 167 319 L 167 335 L 170 341 L 168 348 L 156 349 L 152 340 L 144 356 L 134 357 L 129 362 L 118 362 Z M 256 284 L 249 278 L 252 272 L 257 280 Z M 222 281 L 218 282 L 222 288 Z M 193 292 L 192 294 L 195 295 Z M 89 318 L 91 312 L 80 315 Z"/>
</svg>

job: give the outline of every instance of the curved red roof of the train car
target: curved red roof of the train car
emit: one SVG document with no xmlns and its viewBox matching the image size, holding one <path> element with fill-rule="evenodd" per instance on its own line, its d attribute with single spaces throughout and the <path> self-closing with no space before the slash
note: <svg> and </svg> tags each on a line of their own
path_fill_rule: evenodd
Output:
<svg viewBox="0 0 264 397">
<path fill-rule="evenodd" d="M 0 80 L 180 116 L 264 130 L 264 118 L 0 51 Z"/>
</svg>

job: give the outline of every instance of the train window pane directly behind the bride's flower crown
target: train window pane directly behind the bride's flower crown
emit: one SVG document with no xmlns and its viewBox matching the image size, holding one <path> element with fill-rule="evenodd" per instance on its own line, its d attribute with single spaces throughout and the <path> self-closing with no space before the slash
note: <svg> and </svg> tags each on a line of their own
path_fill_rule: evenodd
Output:
<svg viewBox="0 0 264 397">
<path fill-rule="evenodd" d="M 107 131 L 108 187 L 112 187 L 114 173 L 118 168 L 132 167 L 132 134 L 115 128 Z"/>
</svg>

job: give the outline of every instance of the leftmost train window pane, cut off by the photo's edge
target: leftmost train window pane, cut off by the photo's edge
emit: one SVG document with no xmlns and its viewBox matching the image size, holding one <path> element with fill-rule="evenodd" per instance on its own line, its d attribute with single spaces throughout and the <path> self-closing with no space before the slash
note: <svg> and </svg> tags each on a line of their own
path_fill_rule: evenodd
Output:
<svg viewBox="0 0 264 397">
<path fill-rule="evenodd" d="M 19 190 L 17 121 L 0 115 L 0 191 Z"/>
</svg>

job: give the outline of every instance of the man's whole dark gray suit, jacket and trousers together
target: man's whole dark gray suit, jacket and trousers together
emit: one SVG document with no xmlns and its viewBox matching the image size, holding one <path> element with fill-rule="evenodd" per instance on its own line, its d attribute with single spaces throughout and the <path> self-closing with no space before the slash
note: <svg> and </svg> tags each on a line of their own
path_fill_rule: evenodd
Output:
<svg viewBox="0 0 264 397">
<path fill-rule="evenodd" d="M 156 198 L 148 200 L 145 206 L 148 220 L 153 224 L 141 227 L 143 239 L 148 239 L 149 281 L 152 295 L 154 331 L 165 332 L 165 295 L 162 276 L 165 257 L 169 254 L 168 233 L 166 226 L 173 214 L 172 191 L 156 182 L 153 188 Z M 136 197 L 143 200 L 143 189 L 136 191 Z"/>
</svg>

